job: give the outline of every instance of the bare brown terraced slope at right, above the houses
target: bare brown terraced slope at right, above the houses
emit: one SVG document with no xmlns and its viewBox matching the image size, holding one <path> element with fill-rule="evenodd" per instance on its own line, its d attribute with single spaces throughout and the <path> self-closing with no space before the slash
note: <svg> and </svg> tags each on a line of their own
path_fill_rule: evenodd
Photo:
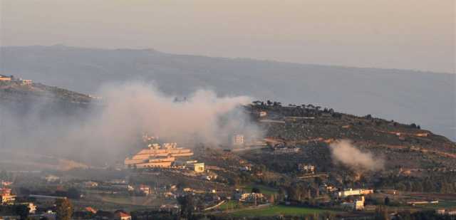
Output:
<svg viewBox="0 0 456 220">
<path fill-rule="evenodd" d="M 446 137 L 422 130 L 415 124 L 405 125 L 371 115 L 358 117 L 327 109 L 303 108 L 299 105 L 252 105 L 250 108 L 254 112 L 268 112 L 268 116 L 259 119 L 259 123 L 267 131 L 268 139 L 302 149 L 296 154 L 261 152 L 261 157 L 253 154 L 245 156 L 261 163 L 281 157 L 278 164 L 271 165 L 278 172 L 284 172 L 287 167 L 294 167 L 300 162 L 318 164 L 320 169 L 326 171 L 334 169 L 328 145 L 336 140 L 351 140 L 359 149 L 384 159 L 385 170 L 388 172 L 397 171 L 398 168 L 456 167 L 456 144 Z"/>
</svg>

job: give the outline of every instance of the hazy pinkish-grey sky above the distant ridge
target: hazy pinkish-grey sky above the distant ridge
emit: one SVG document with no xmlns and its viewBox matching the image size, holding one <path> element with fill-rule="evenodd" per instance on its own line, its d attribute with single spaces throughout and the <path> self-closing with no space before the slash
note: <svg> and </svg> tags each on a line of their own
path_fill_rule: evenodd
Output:
<svg viewBox="0 0 456 220">
<path fill-rule="evenodd" d="M 455 0 L 0 0 L 1 46 L 455 73 Z"/>
</svg>

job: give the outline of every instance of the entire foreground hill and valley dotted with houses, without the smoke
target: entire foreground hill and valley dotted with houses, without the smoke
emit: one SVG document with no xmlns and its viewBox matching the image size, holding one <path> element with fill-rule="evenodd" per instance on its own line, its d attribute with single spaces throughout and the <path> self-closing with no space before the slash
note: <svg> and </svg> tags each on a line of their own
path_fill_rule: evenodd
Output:
<svg viewBox="0 0 456 220">
<path fill-rule="evenodd" d="M 9 102 L 57 90 L 1 78 Z M 58 103 L 83 109 L 94 99 L 58 94 Z M 229 145 L 181 146 L 139 134 L 140 147 L 105 167 L 63 169 L 53 157 L 27 156 L 33 168 L 46 167 L 36 170 L 4 159 L 0 219 L 455 219 L 456 145 L 447 138 L 311 104 L 239 108 L 264 137 L 234 132 Z M 386 162 L 370 169 L 335 161 L 338 140 Z"/>
</svg>

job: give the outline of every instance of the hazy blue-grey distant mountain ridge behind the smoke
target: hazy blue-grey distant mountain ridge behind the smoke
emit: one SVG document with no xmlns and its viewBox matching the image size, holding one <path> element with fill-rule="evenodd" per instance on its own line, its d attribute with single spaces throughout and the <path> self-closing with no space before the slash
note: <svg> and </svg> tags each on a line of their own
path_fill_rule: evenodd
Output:
<svg viewBox="0 0 456 220">
<path fill-rule="evenodd" d="M 208 88 L 220 95 L 314 103 L 415 122 L 456 140 L 454 74 L 67 46 L 2 47 L 0 74 L 89 94 L 105 83 L 140 80 L 175 95 Z"/>
</svg>

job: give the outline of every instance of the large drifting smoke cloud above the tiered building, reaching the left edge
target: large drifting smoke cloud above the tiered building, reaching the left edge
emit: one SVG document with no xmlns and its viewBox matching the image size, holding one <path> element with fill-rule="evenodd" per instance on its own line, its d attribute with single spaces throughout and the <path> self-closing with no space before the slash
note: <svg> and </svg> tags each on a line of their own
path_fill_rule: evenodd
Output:
<svg viewBox="0 0 456 220">
<path fill-rule="evenodd" d="M 103 96 L 100 103 L 76 115 L 43 117 L 38 113 L 46 109 L 43 102 L 24 114 L 3 110 L 0 150 L 29 149 L 110 163 L 144 147 L 139 142 L 145 132 L 183 147 L 226 145 L 239 133 L 261 137 L 242 108 L 250 103 L 249 97 L 220 98 L 210 90 L 197 90 L 185 101 L 176 101 L 175 96 L 142 83 L 106 85 L 99 94 Z"/>
</svg>

